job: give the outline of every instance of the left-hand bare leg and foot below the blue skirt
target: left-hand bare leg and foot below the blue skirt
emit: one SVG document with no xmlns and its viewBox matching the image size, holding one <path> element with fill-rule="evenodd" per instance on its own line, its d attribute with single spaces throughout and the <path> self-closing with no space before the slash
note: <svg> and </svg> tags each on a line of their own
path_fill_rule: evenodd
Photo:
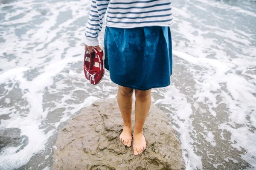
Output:
<svg viewBox="0 0 256 170">
<path fill-rule="evenodd" d="M 122 114 L 123 119 L 123 131 L 119 137 L 119 140 L 126 146 L 131 146 L 131 109 L 132 109 L 132 94 L 133 88 L 126 88 L 118 86 L 117 103 Z"/>
</svg>

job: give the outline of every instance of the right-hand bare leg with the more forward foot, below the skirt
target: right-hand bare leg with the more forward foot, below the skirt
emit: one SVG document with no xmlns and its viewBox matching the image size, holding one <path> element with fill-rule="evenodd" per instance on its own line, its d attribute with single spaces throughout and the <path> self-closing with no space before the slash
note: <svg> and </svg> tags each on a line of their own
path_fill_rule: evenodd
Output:
<svg viewBox="0 0 256 170">
<path fill-rule="evenodd" d="M 143 135 L 143 126 L 151 106 L 151 89 L 140 91 L 135 89 L 135 125 L 134 125 L 134 155 L 142 153 L 146 148 L 146 140 Z"/>
</svg>

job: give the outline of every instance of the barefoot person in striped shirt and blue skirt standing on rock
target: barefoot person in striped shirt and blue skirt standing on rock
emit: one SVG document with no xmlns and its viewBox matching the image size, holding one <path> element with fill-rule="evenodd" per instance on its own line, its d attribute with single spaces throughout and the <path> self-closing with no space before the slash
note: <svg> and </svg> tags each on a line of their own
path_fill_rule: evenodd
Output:
<svg viewBox="0 0 256 170">
<path fill-rule="evenodd" d="M 97 37 L 106 13 L 105 68 L 119 85 L 117 102 L 123 119 L 119 137 L 131 146 L 132 96 L 135 92 L 133 151 L 146 148 L 143 125 L 151 105 L 151 88 L 170 85 L 172 75 L 171 0 L 92 0 L 84 46 L 99 51 Z"/>
</svg>

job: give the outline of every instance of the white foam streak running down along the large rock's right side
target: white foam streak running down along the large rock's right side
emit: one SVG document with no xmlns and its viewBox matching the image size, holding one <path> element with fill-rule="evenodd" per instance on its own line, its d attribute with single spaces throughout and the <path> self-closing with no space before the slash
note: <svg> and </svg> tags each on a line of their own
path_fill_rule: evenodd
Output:
<svg viewBox="0 0 256 170">
<path fill-rule="evenodd" d="M 190 115 L 192 115 L 191 104 L 187 102 L 186 96 L 180 93 L 174 85 L 167 87 L 166 91 L 163 91 L 163 89 L 156 89 L 156 91 L 157 94 L 162 94 L 164 98 L 158 99 L 154 105 L 165 104 L 170 111 L 170 107 L 175 108 L 171 116 L 173 122 L 179 127 L 175 125 L 172 125 L 172 127 L 180 133 L 180 147 L 183 150 L 182 156 L 186 164 L 186 170 L 202 169 L 201 156 L 194 153 L 195 147 L 192 146 L 192 143 L 195 141 L 190 137 L 190 133 L 193 131 L 192 119 L 190 119 Z"/>
</svg>

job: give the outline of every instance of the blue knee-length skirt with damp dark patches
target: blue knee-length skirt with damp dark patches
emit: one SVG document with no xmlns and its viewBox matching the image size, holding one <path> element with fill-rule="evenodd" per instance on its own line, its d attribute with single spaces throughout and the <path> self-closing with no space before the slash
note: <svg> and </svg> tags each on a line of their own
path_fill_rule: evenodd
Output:
<svg viewBox="0 0 256 170">
<path fill-rule="evenodd" d="M 169 27 L 106 27 L 105 68 L 117 85 L 138 90 L 170 85 L 172 37 Z"/>
</svg>

